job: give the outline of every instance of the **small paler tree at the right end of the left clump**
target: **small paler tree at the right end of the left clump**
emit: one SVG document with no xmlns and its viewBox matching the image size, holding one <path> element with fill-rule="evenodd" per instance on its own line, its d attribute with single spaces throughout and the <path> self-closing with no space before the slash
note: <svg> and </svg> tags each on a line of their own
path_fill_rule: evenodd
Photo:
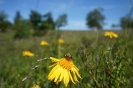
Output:
<svg viewBox="0 0 133 88">
<path fill-rule="evenodd" d="M 56 27 L 59 29 L 62 26 L 65 26 L 67 24 L 67 15 L 62 14 L 58 17 L 58 19 L 55 22 Z"/>
</svg>

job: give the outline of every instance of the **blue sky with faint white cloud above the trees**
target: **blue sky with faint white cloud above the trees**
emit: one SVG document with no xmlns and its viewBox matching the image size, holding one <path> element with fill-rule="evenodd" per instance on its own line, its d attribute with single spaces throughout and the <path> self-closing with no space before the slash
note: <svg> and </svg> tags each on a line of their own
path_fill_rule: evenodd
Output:
<svg viewBox="0 0 133 88">
<path fill-rule="evenodd" d="M 133 2 L 133 1 L 132 1 Z M 52 13 L 54 21 L 61 14 L 67 14 L 68 24 L 64 30 L 87 30 L 86 16 L 95 8 L 102 7 L 106 17 L 104 29 L 112 29 L 113 23 L 118 24 L 121 17 L 130 12 L 130 0 L 0 0 L 0 11 L 8 14 L 13 22 L 15 14 L 20 11 L 23 18 L 28 19 L 31 10 L 42 15 Z"/>
</svg>

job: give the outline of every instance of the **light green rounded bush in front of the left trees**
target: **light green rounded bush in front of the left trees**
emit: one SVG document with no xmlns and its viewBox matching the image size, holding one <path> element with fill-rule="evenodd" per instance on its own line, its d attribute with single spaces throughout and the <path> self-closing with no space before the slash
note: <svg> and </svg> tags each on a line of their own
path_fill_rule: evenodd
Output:
<svg viewBox="0 0 133 88">
<path fill-rule="evenodd" d="M 14 38 L 29 38 L 33 35 L 33 29 L 31 23 L 28 20 L 19 20 L 14 26 L 15 30 Z"/>
</svg>

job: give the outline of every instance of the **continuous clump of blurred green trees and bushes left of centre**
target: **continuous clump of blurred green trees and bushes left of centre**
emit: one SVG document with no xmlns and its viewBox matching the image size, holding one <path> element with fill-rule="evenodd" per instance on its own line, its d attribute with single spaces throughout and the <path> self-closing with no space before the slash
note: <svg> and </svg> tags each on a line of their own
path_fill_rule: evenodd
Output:
<svg viewBox="0 0 133 88">
<path fill-rule="evenodd" d="M 35 10 L 31 10 L 29 19 L 24 19 L 19 11 L 16 12 L 13 23 L 8 21 L 7 17 L 4 11 L 0 11 L 0 31 L 14 30 L 15 38 L 44 35 L 47 30 L 60 29 L 67 24 L 66 14 L 61 14 L 54 21 L 51 12 L 42 15 Z"/>
</svg>

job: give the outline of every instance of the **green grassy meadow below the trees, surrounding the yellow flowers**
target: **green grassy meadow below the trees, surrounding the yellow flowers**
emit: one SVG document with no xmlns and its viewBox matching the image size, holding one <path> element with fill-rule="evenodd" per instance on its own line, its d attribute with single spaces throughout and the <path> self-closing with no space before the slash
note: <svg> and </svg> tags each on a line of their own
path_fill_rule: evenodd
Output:
<svg viewBox="0 0 133 88">
<path fill-rule="evenodd" d="M 0 88 L 64 88 L 47 79 L 53 63 L 49 57 L 73 56 L 82 79 L 69 82 L 67 88 L 132 88 L 133 31 L 113 30 L 118 38 L 104 36 L 105 31 L 48 31 L 44 36 L 14 39 L 13 32 L 0 33 Z M 58 39 L 64 40 L 59 43 Z M 40 45 L 46 41 L 48 45 Z M 30 51 L 34 56 L 23 56 Z M 43 61 L 38 61 L 44 59 Z M 35 68 L 38 66 L 38 68 Z"/>
</svg>

